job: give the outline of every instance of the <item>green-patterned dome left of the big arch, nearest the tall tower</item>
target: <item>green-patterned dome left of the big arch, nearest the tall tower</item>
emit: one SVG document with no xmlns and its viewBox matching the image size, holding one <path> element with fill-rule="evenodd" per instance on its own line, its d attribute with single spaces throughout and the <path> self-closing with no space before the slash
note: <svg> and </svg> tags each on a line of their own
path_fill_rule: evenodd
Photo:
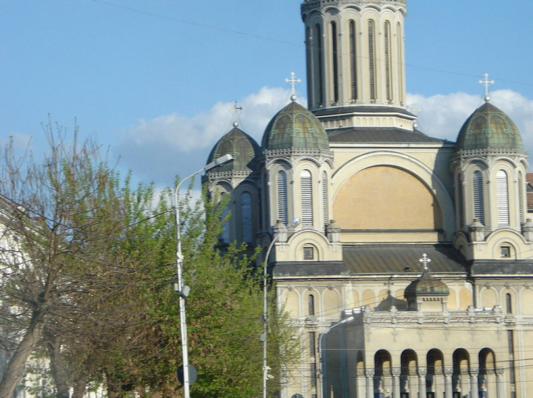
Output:
<svg viewBox="0 0 533 398">
<path fill-rule="evenodd" d="M 263 150 L 287 148 L 329 150 L 326 130 L 311 111 L 292 101 L 279 111 L 265 129 Z"/>
</svg>

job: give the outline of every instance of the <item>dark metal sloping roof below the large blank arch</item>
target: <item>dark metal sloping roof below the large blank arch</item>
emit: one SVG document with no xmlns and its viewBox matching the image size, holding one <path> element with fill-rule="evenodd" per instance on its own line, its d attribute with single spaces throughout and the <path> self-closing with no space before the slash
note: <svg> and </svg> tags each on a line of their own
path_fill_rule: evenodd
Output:
<svg viewBox="0 0 533 398">
<path fill-rule="evenodd" d="M 343 262 L 351 273 L 422 272 L 418 260 L 423 254 L 431 259 L 433 273 L 466 272 L 466 261 L 451 245 L 353 245 L 344 246 Z"/>
</svg>

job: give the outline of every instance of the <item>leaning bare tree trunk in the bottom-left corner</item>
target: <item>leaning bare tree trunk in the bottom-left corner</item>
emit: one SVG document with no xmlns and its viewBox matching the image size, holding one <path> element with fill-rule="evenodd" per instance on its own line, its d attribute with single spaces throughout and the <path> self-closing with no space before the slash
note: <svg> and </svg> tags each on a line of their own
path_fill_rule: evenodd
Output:
<svg viewBox="0 0 533 398">
<path fill-rule="evenodd" d="M 12 398 L 13 392 L 22 377 L 24 366 L 31 352 L 43 334 L 43 316 L 40 310 L 34 310 L 30 325 L 17 350 L 7 362 L 7 368 L 0 382 L 0 398 Z"/>
</svg>

